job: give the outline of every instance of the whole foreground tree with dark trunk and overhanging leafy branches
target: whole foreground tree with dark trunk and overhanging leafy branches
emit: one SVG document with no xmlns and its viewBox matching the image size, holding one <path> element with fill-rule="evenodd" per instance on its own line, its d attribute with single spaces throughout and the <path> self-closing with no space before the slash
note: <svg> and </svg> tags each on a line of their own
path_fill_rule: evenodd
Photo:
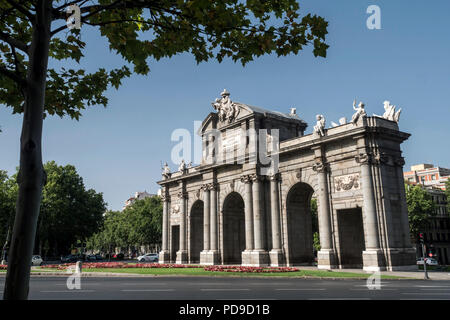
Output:
<svg viewBox="0 0 450 320">
<path fill-rule="evenodd" d="M 196 61 L 224 57 L 243 65 L 263 54 L 299 53 L 313 46 L 325 57 L 327 22 L 300 18 L 295 0 L 5 0 L 0 3 L 0 103 L 23 113 L 19 195 L 5 283 L 5 299 L 28 296 L 33 241 L 46 174 L 42 164 L 42 125 L 46 115 L 78 119 L 94 104 L 106 106 L 104 91 L 116 89 L 128 66 L 86 73 L 48 68 L 49 57 L 79 62 L 85 43 L 66 23 L 66 9 L 78 5 L 82 26 L 98 27 L 110 49 L 147 74 L 148 58 L 191 52 Z M 74 11 L 76 12 L 76 10 Z M 76 24 L 75 24 L 76 26 Z M 66 31 L 66 33 L 62 33 Z M 148 34 L 148 39 L 141 35 Z"/>
</svg>

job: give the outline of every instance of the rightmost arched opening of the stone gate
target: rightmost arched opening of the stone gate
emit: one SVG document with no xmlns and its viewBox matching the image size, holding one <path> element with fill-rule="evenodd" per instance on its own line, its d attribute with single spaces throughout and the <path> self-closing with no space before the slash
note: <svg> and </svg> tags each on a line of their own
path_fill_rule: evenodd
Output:
<svg viewBox="0 0 450 320">
<path fill-rule="evenodd" d="M 314 189 L 299 182 L 288 192 L 286 198 L 289 264 L 313 264 L 313 219 L 311 197 Z"/>
</svg>

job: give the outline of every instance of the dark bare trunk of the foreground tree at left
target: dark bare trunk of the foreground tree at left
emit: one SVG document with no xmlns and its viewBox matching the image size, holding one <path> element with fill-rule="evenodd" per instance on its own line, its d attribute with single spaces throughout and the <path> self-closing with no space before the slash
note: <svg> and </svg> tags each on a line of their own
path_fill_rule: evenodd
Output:
<svg viewBox="0 0 450 320">
<path fill-rule="evenodd" d="M 31 256 L 46 180 L 41 142 L 52 18 L 50 0 L 37 1 L 35 17 L 20 137 L 19 196 L 3 295 L 6 300 L 28 298 Z"/>
</svg>

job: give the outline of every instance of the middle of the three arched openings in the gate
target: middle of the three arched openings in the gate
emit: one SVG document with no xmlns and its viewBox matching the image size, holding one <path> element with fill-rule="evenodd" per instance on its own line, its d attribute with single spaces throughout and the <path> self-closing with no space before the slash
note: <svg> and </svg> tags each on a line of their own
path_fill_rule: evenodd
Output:
<svg viewBox="0 0 450 320">
<path fill-rule="evenodd" d="M 223 263 L 241 264 L 245 250 L 244 199 L 230 193 L 223 202 Z"/>
</svg>

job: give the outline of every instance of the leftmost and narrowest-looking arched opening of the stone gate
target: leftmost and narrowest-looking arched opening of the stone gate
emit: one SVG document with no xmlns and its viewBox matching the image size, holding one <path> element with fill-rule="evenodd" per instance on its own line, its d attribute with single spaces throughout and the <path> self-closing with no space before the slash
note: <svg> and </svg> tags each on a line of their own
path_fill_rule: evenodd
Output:
<svg viewBox="0 0 450 320">
<path fill-rule="evenodd" d="M 190 214 L 190 263 L 200 263 L 200 252 L 203 250 L 203 201 L 197 200 Z"/>
</svg>

